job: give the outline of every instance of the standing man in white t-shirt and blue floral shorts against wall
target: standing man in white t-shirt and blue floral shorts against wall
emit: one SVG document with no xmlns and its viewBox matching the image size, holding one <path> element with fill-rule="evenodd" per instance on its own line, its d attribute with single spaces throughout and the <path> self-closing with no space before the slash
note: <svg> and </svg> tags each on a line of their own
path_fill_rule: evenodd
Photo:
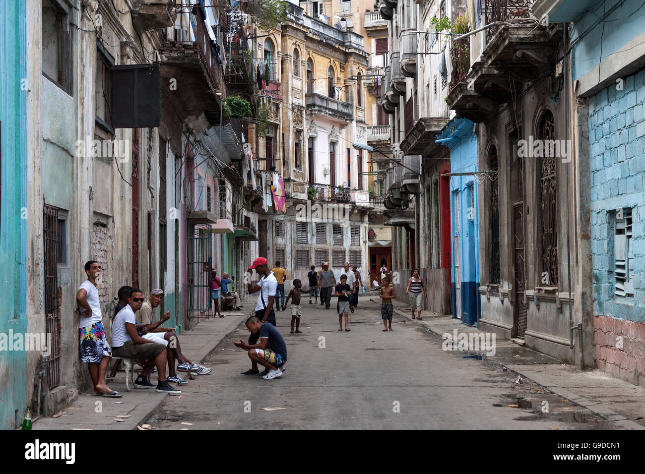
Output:
<svg viewBox="0 0 645 474">
<path fill-rule="evenodd" d="M 108 369 L 112 349 L 105 339 L 103 315 L 96 280 L 101 276 L 101 264 L 90 260 L 85 264 L 86 281 L 81 283 L 76 293 L 79 304 L 79 352 L 81 362 L 87 362 L 94 390 L 92 395 L 103 397 L 123 397 L 105 383 L 105 372 Z"/>
</svg>

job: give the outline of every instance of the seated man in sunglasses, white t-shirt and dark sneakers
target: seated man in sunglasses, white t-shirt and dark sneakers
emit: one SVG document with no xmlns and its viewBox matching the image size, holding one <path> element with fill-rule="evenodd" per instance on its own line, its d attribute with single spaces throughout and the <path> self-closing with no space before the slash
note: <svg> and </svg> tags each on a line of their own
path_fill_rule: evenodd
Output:
<svg viewBox="0 0 645 474">
<path fill-rule="evenodd" d="M 114 357 L 148 360 L 134 382 L 135 388 L 150 388 L 161 393 L 178 395 L 181 390 L 175 390 L 166 380 L 166 346 L 145 339 L 137 333 L 137 319 L 134 312 L 141 308 L 143 299 L 143 291 L 133 288 L 130 291 L 128 304 L 114 317 L 114 321 L 112 321 L 112 353 Z M 148 375 L 154 366 L 157 366 L 159 374 L 157 386 L 148 382 Z"/>
</svg>

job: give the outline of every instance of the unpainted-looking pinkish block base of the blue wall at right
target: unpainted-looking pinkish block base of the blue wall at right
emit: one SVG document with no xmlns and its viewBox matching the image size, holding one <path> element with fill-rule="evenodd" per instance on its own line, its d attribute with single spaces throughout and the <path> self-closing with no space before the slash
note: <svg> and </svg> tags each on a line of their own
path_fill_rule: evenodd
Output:
<svg viewBox="0 0 645 474">
<path fill-rule="evenodd" d="M 594 317 L 593 344 L 599 369 L 645 388 L 645 324 Z"/>
</svg>

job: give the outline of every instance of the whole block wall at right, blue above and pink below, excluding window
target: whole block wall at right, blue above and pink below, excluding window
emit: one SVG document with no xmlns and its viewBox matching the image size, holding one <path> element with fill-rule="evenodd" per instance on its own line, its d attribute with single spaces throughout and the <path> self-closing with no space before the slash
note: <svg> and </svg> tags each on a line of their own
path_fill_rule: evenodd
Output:
<svg viewBox="0 0 645 474">
<path fill-rule="evenodd" d="M 613 84 L 589 101 L 593 342 L 600 369 L 645 387 L 645 75 L 623 79 L 623 90 Z M 634 297 L 626 299 L 613 294 L 621 207 L 633 218 Z"/>
</svg>

